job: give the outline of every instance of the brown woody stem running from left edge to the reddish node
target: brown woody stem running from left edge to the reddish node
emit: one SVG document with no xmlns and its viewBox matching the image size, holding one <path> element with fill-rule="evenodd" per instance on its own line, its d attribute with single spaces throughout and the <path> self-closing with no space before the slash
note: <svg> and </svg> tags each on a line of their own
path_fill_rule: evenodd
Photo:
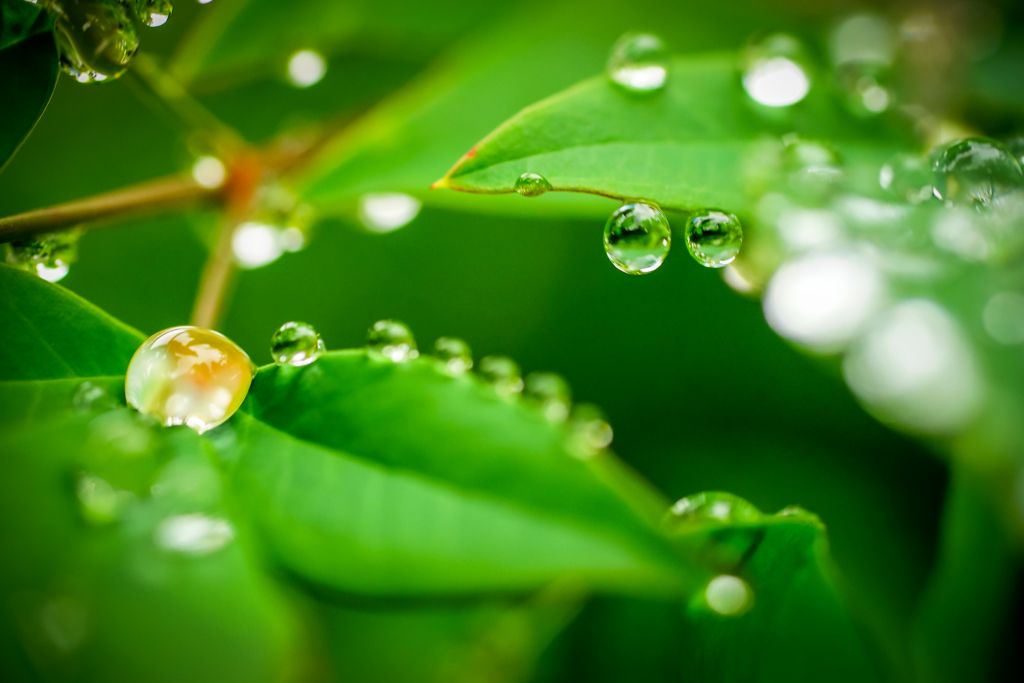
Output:
<svg viewBox="0 0 1024 683">
<path fill-rule="evenodd" d="M 183 205 L 214 200 L 221 194 L 221 188 L 204 187 L 190 175 L 168 176 L 0 218 L 0 243 L 53 232 L 89 221 L 180 210 Z"/>
</svg>

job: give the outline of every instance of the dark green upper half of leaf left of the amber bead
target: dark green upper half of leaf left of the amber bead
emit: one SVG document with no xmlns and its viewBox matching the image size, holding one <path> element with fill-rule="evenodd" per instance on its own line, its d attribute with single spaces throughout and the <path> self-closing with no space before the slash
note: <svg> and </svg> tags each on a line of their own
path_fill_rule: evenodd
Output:
<svg viewBox="0 0 1024 683">
<path fill-rule="evenodd" d="M 0 265 L 0 381 L 123 375 L 142 335 L 63 288 Z"/>
</svg>

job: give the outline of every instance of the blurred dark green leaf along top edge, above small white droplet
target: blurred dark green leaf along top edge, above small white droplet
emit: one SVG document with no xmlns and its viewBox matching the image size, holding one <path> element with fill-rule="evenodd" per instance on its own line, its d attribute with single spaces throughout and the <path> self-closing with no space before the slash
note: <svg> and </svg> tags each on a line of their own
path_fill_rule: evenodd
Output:
<svg viewBox="0 0 1024 683">
<path fill-rule="evenodd" d="M 230 72 L 284 72 L 300 49 L 325 54 L 430 54 L 492 13 L 472 0 L 240 0 L 216 3 L 179 45 L 185 81 Z"/>
</svg>

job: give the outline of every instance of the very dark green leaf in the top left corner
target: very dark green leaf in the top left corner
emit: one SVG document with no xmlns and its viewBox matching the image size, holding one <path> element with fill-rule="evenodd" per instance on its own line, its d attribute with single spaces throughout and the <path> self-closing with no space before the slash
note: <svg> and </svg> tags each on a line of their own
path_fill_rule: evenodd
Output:
<svg viewBox="0 0 1024 683">
<path fill-rule="evenodd" d="M 53 94 L 57 51 L 47 13 L 0 0 L 0 171 L 35 128 Z"/>
</svg>

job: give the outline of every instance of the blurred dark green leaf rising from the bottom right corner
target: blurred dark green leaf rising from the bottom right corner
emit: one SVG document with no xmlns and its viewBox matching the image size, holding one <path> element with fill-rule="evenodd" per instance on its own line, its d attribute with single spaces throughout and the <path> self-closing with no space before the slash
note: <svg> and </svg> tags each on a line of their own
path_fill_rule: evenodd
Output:
<svg viewBox="0 0 1024 683">
<path fill-rule="evenodd" d="M 993 680 L 1010 613 L 1016 560 L 992 482 L 961 464 L 953 471 L 940 557 L 914 633 L 920 680 Z"/>
</svg>

